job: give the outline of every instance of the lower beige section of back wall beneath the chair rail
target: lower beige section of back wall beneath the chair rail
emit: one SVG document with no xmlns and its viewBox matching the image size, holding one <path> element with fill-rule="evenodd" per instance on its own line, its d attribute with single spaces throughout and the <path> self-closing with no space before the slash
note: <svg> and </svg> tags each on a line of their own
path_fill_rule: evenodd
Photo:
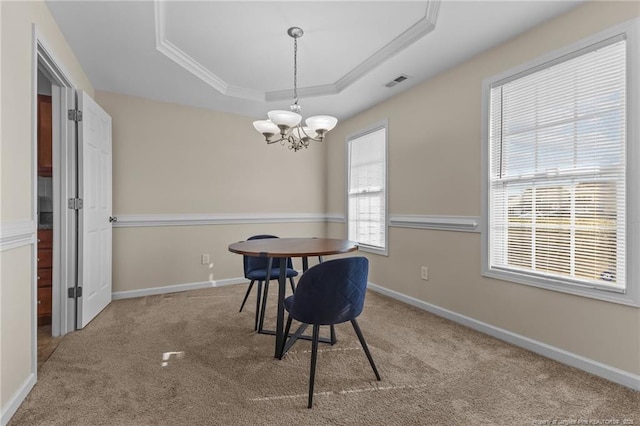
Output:
<svg viewBox="0 0 640 426">
<path fill-rule="evenodd" d="M 239 278 L 242 257 L 229 252 L 229 244 L 256 234 L 311 237 L 325 232 L 323 223 L 116 228 L 113 291 Z M 202 253 L 210 255 L 211 264 L 201 265 Z M 294 264 L 302 269 L 299 260 Z"/>
</svg>

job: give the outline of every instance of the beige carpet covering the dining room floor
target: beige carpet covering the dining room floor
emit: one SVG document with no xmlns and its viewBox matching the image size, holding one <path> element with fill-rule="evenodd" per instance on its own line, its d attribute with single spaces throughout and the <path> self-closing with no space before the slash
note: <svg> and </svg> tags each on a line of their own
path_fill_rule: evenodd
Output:
<svg viewBox="0 0 640 426">
<path fill-rule="evenodd" d="M 10 425 L 640 425 L 638 392 L 371 292 L 359 322 L 382 382 L 339 325 L 308 410 L 309 342 L 274 359 L 251 303 L 237 312 L 245 289 L 113 302 L 63 339 Z"/>
</svg>

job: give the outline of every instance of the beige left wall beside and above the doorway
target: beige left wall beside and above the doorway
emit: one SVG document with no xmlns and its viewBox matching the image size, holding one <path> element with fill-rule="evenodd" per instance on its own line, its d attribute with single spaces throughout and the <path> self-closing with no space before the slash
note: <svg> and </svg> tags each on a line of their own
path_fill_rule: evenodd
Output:
<svg viewBox="0 0 640 426">
<path fill-rule="evenodd" d="M 2 224 L 34 221 L 32 217 L 32 24 L 58 64 L 79 89 L 93 87 L 67 45 L 49 9 L 41 1 L 0 2 L 2 99 L 0 191 Z M 0 252 L 0 409 L 29 378 L 32 365 L 31 247 Z"/>
</svg>

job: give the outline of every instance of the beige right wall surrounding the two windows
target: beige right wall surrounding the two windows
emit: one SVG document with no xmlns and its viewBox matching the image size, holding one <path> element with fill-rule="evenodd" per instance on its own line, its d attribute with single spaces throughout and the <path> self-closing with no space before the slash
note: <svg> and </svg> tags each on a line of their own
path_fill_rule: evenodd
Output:
<svg viewBox="0 0 640 426">
<path fill-rule="evenodd" d="M 327 162 L 344 164 L 345 136 L 388 119 L 390 215 L 480 216 L 482 80 L 639 15 L 638 2 L 578 6 L 341 122 L 328 136 Z M 344 168 L 327 180 L 327 211 L 343 214 Z M 329 235 L 344 236 L 344 225 L 331 224 Z M 483 278 L 480 255 L 477 233 L 390 228 L 389 256 L 369 256 L 370 280 L 640 374 L 640 309 Z"/>
</svg>

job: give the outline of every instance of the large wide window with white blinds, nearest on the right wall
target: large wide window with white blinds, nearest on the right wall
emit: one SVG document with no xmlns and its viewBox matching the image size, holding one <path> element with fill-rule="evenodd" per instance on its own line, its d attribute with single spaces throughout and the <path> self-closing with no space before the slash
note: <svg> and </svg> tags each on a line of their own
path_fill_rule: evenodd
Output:
<svg viewBox="0 0 640 426">
<path fill-rule="evenodd" d="M 485 81 L 485 275 L 638 303 L 627 260 L 640 188 L 628 152 L 631 32 Z"/>
</svg>

